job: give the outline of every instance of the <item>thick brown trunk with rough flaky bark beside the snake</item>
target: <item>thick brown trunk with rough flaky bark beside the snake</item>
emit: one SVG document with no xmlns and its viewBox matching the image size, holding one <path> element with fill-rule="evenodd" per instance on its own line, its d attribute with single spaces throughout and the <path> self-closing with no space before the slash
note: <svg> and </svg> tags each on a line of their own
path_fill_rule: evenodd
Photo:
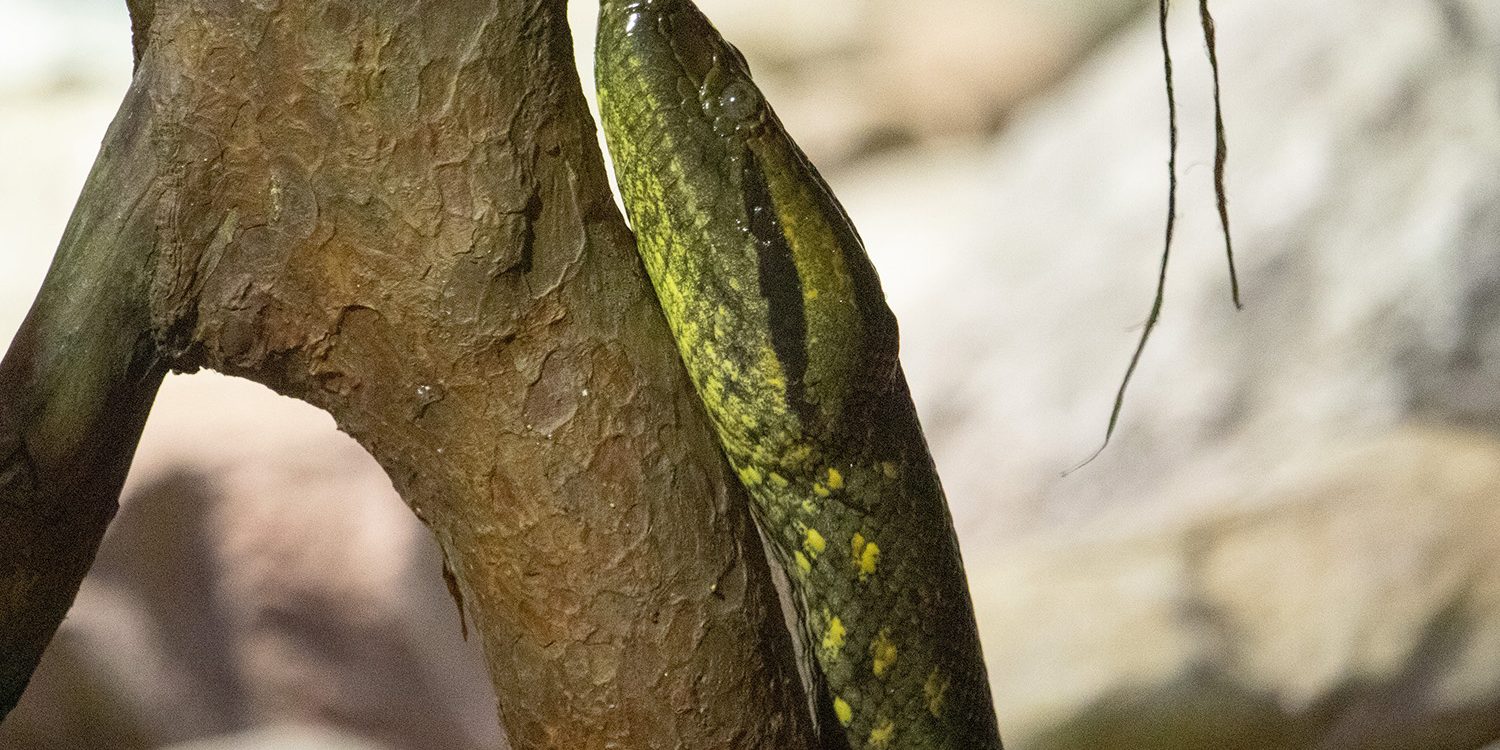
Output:
<svg viewBox="0 0 1500 750">
<path fill-rule="evenodd" d="M 81 318 L 132 344 L 80 344 L 130 384 L 86 432 L 104 464 L 128 464 L 162 366 L 266 382 L 332 412 L 434 530 L 514 747 L 810 747 L 759 542 L 609 200 L 562 0 L 156 0 L 136 32 L 100 156 L 122 165 L 78 208 L 132 231 L 100 225 L 120 252 L 62 254 L 46 282 L 96 279 L 134 314 Z M 0 388 L 48 400 L 36 378 Z M 0 442 L 28 422 L 0 410 Z M 48 471 L 88 492 L 0 474 L 0 501 L 90 520 L 0 506 L 20 548 L 0 592 L 15 560 L 56 558 L 44 588 L 72 598 L 123 474 L 81 460 Z M 62 615 L 0 604 L 4 644 Z M 0 696 L 34 662 L 6 648 Z"/>
</svg>

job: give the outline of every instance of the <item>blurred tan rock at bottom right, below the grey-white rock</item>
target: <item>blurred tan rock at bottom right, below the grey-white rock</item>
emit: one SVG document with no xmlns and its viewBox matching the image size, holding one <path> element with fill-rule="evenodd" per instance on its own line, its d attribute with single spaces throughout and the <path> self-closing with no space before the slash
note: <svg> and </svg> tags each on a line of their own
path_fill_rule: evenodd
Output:
<svg viewBox="0 0 1500 750">
<path fill-rule="evenodd" d="M 1104 518 L 1088 540 L 1034 538 L 982 568 L 1006 747 L 1500 735 L 1500 440 L 1398 429 L 1256 495 L 1257 512 L 1230 501 L 1158 530 Z"/>
</svg>

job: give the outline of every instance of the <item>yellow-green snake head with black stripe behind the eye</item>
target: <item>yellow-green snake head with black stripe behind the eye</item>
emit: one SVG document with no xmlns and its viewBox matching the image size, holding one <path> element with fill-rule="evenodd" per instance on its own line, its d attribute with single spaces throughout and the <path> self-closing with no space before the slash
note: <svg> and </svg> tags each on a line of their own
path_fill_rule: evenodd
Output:
<svg viewBox="0 0 1500 750">
<path fill-rule="evenodd" d="M 626 206 L 726 441 L 802 454 L 867 426 L 897 381 L 896 320 L 832 190 L 690 0 L 600 8 Z"/>
</svg>

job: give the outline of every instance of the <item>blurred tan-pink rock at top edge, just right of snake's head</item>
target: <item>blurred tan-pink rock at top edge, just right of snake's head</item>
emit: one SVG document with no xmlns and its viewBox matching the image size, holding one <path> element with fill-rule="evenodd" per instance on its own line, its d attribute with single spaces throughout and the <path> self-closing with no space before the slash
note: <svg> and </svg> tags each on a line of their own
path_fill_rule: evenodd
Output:
<svg viewBox="0 0 1500 750">
<path fill-rule="evenodd" d="M 999 130 L 1148 0 L 700 0 L 825 170 Z M 568 9 L 584 80 L 594 3 Z"/>
</svg>

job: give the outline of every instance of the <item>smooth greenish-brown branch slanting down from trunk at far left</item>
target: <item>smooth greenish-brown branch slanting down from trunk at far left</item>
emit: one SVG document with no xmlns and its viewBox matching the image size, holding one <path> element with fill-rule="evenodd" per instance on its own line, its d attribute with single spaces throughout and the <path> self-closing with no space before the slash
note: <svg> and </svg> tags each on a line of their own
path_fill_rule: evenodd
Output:
<svg viewBox="0 0 1500 750">
<path fill-rule="evenodd" d="M 93 562 L 162 380 L 146 304 L 160 190 L 141 99 L 126 96 L 0 362 L 0 717 Z"/>
</svg>

